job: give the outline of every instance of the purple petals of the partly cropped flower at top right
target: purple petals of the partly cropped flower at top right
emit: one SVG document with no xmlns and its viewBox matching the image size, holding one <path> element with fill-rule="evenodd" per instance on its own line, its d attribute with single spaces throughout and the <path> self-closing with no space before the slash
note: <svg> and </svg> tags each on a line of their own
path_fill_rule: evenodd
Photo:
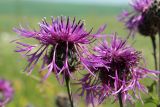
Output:
<svg viewBox="0 0 160 107">
<path fill-rule="evenodd" d="M 139 31 L 138 27 L 140 24 L 145 23 L 144 21 L 146 20 L 146 13 L 149 11 L 152 3 L 153 0 L 132 0 L 131 7 L 133 10 L 131 12 L 124 11 L 119 16 L 119 20 L 125 24 L 127 29 L 129 29 L 129 35 L 134 36 L 135 33 Z M 146 36 L 148 36 L 148 33 Z"/>
</svg>

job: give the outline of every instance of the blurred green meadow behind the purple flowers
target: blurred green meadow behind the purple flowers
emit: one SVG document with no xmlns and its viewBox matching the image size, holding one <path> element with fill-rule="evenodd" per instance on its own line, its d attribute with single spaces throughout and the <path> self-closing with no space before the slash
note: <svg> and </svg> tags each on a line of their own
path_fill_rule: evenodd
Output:
<svg viewBox="0 0 160 107">
<path fill-rule="evenodd" d="M 56 107 L 55 98 L 59 93 L 65 93 L 65 88 L 58 84 L 54 75 L 51 75 L 45 83 L 40 83 L 42 75 L 37 73 L 39 65 L 36 66 L 32 75 L 23 73 L 27 62 L 19 54 L 14 52 L 15 43 L 10 41 L 18 36 L 12 31 L 13 27 L 30 25 L 38 28 L 38 22 L 43 17 L 50 16 L 76 16 L 84 19 L 86 27 L 94 31 L 99 26 L 107 24 L 105 33 L 118 32 L 121 37 L 127 36 L 127 31 L 122 23 L 117 21 L 117 16 L 124 9 L 129 9 L 126 4 L 78 4 L 63 2 L 38 2 L 23 0 L 0 0 L 0 78 L 9 79 L 15 90 L 13 101 L 7 107 Z M 130 44 L 143 52 L 147 67 L 153 69 L 152 45 L 150 38 L 136 35 L 135 40 L 130 39 Z M 158 45 L 158 44 L 157 44 Z M 145 80 L 149 85 L 152 81 Z M 143 95 L 143 98 L 146 96 Z M 81 99 L 81 98 L 80 98 Z M 78 100 L 78 107 L 86 107 L 83 99 Z M 136 107 L 154 107 L 153 104 L 142 105 L 136 101 Z M 101 107 L 118 107 L 117 103 L 107 100 Z"/>
</svg>

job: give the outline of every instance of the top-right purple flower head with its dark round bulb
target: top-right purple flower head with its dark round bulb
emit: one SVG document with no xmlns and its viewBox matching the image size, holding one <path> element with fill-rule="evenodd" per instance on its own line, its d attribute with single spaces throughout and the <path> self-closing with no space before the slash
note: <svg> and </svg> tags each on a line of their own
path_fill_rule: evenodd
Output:
<svg viewBox="0 0 160 107">
<path fill-rule="evenodd" d="M 119 20 L 125 23 L 130 30 L 129 35 L 136 32 L 144 36 L 154 36 L 158 32 L 158 15 L 157 0 L 133 0 L 131 6 L 132 12 L 124 11 Z M 159 21 L 158 21 L 159 20 Z"/>
</svg>

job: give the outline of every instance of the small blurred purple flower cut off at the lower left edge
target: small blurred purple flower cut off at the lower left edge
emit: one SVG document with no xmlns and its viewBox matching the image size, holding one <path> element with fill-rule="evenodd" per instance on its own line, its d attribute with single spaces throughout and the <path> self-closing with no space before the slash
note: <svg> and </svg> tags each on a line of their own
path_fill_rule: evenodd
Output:
<svg viewBox="0 0 160 107">
<path fill-rule="evenodd" d="M 10 82 L 0 79 L 0 107 L 6 105 L 13 97 L 13 89 Z"/>
</svg>

